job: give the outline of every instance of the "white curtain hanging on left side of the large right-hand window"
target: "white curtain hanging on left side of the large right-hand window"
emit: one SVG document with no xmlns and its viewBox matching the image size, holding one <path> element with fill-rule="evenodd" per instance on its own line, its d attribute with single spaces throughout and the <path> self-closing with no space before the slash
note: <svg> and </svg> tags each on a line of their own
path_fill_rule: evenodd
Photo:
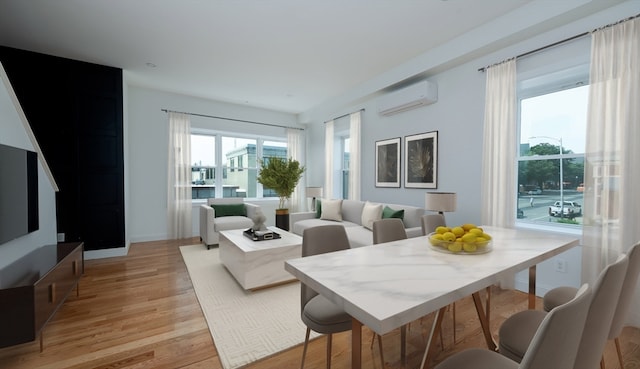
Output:
<svg viewBox="0 0 640 369">
<path fill-rule="evenodd" d="M 516 61 L 487 68 L 482 150 L 484 225 L 513 227 L 516 214 Z"/>
</svg>

